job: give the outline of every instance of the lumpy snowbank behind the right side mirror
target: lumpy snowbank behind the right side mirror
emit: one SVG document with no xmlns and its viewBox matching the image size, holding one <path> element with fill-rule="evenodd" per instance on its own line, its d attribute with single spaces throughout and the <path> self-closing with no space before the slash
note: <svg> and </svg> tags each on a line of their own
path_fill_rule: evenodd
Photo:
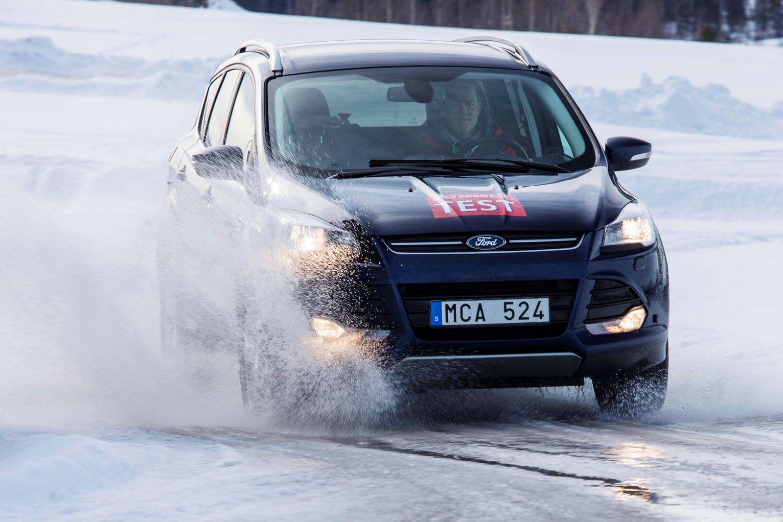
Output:
<svg viewBox="0 0 783 522">
<path fill-rule="evenodd" d="M 646 74 L 637 89 L 572 89 L 589 120 L 743 138 L 783 137 L 783 102 L 765 111 L 731 96 L 725 85 L 696 87 L 687 78 L 653 82 Z"/>
</svg>

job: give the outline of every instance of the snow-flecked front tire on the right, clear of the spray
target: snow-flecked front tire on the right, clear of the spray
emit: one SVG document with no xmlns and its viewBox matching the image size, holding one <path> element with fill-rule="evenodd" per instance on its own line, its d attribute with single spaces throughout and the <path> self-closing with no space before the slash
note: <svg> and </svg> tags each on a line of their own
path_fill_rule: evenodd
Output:
<svg viewBox="0 0 783 522">
<path fill-rule="evenodd" d="M 598 407 L 612 415 L 637 417 L 659 411 L 666 400 L 669 384 L 669 344 L 666 359 L 636 372 L 622 372 L 594 378 L 593 391 Z"/>
</svg>

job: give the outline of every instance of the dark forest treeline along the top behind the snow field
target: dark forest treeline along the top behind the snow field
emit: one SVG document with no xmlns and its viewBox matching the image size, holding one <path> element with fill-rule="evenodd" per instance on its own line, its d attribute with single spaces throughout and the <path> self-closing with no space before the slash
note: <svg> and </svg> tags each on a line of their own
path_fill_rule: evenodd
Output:
<svg viewBox="0 0 783 522">
<path fill-rule="evenodd" d="M 139 0 L 136 0 L 139 1 Z M 207 0 L 140 0 L 179 5 Z M 783 0 L 234 0 L 251 11 L 395 24 L 745 42 L 783 38 Z"/>
</svg>

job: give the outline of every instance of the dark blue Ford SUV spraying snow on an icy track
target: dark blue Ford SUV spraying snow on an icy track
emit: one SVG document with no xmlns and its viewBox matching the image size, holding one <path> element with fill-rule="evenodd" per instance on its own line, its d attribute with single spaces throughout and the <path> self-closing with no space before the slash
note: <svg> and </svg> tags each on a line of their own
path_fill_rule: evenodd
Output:
<svg viewBox="0 0 783 522">
<path fill-rule="evenodd" d="M 650 155 L 630 137 L 600 147 L 554 73 L 504 38 L 246 42 L 171 153 L 164 343 L 215 314 L 208 288 L 175 274 L 202 245 L 183 223 L 207 223 L 226 252 L 255 242 L 296 258 L 315 338 L 374 343 L 378 361 L 424 386 L 590 378 L 604 410 L 658 409 L 666 256 L 615 175 Z M 265 362 L 247 342 L 244 288 L 229 300 L 252 403 Z"/>
</svg>

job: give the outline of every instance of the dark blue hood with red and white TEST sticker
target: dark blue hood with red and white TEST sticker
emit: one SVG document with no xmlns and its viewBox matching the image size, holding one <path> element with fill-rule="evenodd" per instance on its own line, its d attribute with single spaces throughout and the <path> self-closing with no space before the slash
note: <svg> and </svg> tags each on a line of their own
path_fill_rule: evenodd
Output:
<svg viewBox="0 0 783 522">
<path fill-rule="evenodd" d="M 596 230 L 631 201 L 604 167 L 576 175 L 501 178 L 471 172 L 328 179 L 315 185 L 301 187 L 298 201 L 306 208 L 300 204 L 294 209 L 332 223 L 352 216 L 370 235 L 378 236 Z"/>
</svg>

